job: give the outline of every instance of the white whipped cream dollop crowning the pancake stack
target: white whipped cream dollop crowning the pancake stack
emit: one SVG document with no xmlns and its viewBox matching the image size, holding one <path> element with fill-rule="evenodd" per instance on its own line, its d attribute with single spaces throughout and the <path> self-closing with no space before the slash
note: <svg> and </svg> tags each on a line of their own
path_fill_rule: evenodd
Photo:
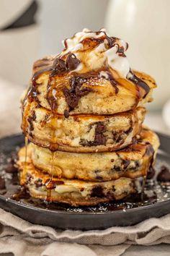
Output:
<svg viewBox="0 0 170 256">
<path fill-rule="evenodd" d="M 97 46 L 86 48 L 86 39 L 96 40 Z M 98 32 L 84 29 L 76 33 L 72 38 L 63 41 L 66 47 L 60 56 L 65 56 L 71 52 L 81 62 L 74 71 L 81 72 L 84 68 L 86 71 L 109 67 L 115 70 L 120 77 L 126 78 L 130 72 L 130 64 L 124 52 L 128 49 L 128 43 L 119 38 L 112 38 L 106 30 Z"/>
</svg>

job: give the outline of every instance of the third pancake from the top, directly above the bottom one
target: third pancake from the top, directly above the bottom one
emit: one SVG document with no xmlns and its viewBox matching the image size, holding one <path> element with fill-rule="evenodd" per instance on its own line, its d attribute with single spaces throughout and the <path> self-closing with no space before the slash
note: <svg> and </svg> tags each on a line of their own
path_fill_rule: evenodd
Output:
<svg viewBox="0 0 170 256">
<path fill-rule="evenodd" d="M 157 135 L 144 129 L 138 140 L 122 150 L 105 153 L 51 152 L 46 148 L 30 145 L 27 155 L 36 168 L 66 179 L 104 182 L 126 176 L 135 179 L 146 176 L 158 150 Z M 25 148 L 19 151 L 19 161 L 24 162 Z"/>
</svg>

